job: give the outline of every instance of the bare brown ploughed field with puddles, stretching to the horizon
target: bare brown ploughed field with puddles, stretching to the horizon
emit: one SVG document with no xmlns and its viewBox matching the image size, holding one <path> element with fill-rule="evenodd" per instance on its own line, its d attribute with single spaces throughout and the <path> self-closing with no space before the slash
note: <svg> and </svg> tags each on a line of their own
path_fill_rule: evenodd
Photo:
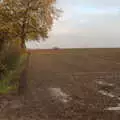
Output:
<svg viewBox="0 0 120 120">
<path fill-rule="evenodd" d="M 120 120 L 120 49 L 30 52 L 24 99 L 4 115 L 17 120 Z"/>
</svg>

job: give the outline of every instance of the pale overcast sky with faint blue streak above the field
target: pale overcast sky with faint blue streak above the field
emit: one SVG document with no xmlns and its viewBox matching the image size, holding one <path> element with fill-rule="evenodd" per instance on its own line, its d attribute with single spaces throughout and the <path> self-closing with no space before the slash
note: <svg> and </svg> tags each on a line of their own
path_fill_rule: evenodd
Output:
<svg viewBox="0 0 120 120">
<path fill-rule="evenodd" d="M 45 42 L 29 48 L 120 47 L 120 0 L 57 0 L 64 12 Z"/>
</svg>

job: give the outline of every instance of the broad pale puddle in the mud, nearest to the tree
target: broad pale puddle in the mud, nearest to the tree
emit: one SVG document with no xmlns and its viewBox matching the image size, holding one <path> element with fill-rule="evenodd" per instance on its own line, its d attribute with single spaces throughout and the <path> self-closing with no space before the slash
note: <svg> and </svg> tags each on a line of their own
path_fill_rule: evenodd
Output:
<svg viewBox="0 0 120 120">
<path fill-rule="evenodd" d="M 64 93 L 61 88 L 49 88 L 52 97 L 55 97 L 63 103 L 67 103 L 71 100 L 71 97 Z"/>
</svg>

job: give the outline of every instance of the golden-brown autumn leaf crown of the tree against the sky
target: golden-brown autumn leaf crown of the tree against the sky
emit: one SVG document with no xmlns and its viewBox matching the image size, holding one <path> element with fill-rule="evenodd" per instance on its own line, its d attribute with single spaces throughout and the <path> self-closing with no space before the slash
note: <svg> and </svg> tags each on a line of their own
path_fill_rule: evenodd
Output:
<svg viewBox="0 0 120 120">
<path fill-rule="evenodd" d="M 0 3 L 0 44 L 17 41 L 25 48 L 25 41 L 45 39 L 59 10 L 56 0 L 3 0 Z M 1 48 L 2 46 L 0 46 Z"/>
</svg>

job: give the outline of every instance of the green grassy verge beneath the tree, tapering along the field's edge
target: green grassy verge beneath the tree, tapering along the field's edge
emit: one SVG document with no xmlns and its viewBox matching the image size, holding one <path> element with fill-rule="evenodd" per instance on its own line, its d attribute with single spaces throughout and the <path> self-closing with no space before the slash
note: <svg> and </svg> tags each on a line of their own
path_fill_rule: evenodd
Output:
<svg viewBox="0 0 120 120">
<path fill-rule="evenodd" d="M 16 62 L 14 69 L 7 73 L 0 80 L 0 94 L 16 93 L 19 87 L 20 74 L 25 68 L 28 54 L 23 52 Z"/>
</svg>

